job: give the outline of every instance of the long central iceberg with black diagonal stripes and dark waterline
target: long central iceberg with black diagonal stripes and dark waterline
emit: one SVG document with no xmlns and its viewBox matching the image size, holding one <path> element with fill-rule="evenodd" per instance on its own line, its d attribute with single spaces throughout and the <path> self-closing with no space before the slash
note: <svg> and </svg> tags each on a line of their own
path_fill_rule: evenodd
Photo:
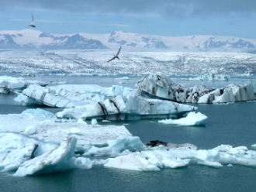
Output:
<svg viewBox="0 0 256 192">
<path fill-rule="evenodd" d="M 133 120 L 141 118 L 171 117 L 194 111 L 196 107 L 172 101 L 147 99 L 139 96 L 124 98 L 119 95 L 94 105 L 66 108 L 56 114 L 57 118 L 97 118 L 106 120 Z"/>
</svg>

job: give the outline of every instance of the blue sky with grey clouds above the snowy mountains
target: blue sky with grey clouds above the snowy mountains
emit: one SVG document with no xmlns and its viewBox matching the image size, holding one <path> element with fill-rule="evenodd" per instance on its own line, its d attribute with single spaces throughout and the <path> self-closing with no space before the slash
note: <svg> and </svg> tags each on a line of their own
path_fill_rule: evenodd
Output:
<svg viewBox="0 0 256 192">
<path fill-rule="evenodd" d="M 0 30 L 256 39 L 255 0 L 0 0 Z"/>
</svg>

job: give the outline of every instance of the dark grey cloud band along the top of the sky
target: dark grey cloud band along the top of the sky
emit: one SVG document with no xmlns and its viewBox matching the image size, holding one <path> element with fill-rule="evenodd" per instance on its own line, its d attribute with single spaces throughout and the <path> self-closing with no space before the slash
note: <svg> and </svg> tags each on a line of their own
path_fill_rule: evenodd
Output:
<svg viewBox="0 0 256 192">
<path fill-rule="evenodd" d="M 50 9 L 83 14 L 164 15 L 168 17 L 212 14 L 256 14 L 254 0 L 12 0 L 2 8 Z"/>
</svg>

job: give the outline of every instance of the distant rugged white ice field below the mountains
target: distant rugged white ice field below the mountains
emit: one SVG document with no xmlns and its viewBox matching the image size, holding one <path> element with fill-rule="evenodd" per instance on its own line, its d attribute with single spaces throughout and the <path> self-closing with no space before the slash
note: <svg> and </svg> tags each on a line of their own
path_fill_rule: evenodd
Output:
<svg viewBox="0 0 256 192">
<path fill-rule="evenodd" d="M 227 52 L 116 50 L 0 50 L 0 73 L 57 75 L 256 75 L 256 55 Z"/>
</svg>

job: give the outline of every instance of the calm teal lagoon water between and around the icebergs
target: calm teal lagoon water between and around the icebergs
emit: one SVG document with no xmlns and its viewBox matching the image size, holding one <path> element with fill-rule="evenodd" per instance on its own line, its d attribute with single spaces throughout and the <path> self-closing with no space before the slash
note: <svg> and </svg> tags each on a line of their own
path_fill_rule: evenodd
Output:
<svg viewBox="0 0 256 192">
<path fill-rule="evenodd" d="M 73 81 L 76 84 L 80 82 L 109 86 L 120 80 L 91 77 L 73 79 Z M 125 81 L 126 84 L 122 85 L 133 87 L 135 81 Z M 184 84 L 199 83 L 181 79 L 176 81 Z M 241 79 L 236 83 L 244 84 L 245 82 L 247 80 Z M 220 85 L 223 87 L 229 83 L 209 82 L 207 84 L 212 85 L 210 87 Z M 0 95 L 0 114 L 20 113 L 26 110 L 26 107 L 13 105 L 13 98 L 15 98 L 13 95 Z M 256 143 L 256 102 L 195 106 L 199 107 L 198 111 L 208 116 L 204 127 L 162 125 L 156 119 L 99 122 L 99 124 L 123 125 L 127 123 L 129 125 L 126 125 L 126 128 L 133 135 L 140 136 L 144 143 L 155 139 L 164 142 L 190 142 L 199 149 L 213 149 L 221 144 L 247 146 L 251 149 L 251 145 Z M 44 109 L 54 113 L 62 110 Z M 33 177 L 12 177 L 10 173 L 0 173 L 0 191 L 255 191 L 255 177 L 256 169 L 245 166 L 223 166 L 216 169 L 189 165 L 158 172 L 137 172 L 98 166 L 92 170 L 69 170 Z"/>
</svg>

